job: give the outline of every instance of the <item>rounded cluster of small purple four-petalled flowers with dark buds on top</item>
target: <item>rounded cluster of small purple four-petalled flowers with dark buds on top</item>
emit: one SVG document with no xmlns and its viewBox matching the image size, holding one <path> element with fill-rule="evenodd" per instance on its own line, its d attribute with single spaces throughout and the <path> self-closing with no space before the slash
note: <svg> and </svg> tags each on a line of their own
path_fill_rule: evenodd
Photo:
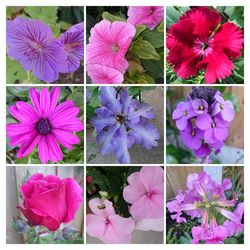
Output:
<svg viewBox="0 0 250 250">
<path fill-rule="evenodd" d="M 193 87 L 172 114 L 183 143 L 199 158 L 212 150 L 220 151 L 234 116 L 232 102 L 225 101 L 221 92 L 211 87 Z"/>
</svg>

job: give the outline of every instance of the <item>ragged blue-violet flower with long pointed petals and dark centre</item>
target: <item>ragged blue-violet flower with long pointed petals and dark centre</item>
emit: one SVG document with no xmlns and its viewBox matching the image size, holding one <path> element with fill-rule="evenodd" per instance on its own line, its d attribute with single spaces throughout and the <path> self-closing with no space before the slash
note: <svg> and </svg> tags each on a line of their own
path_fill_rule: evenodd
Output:
<svg viewBox="0 0 250 250">
<path fill-rule="evenodd" d="M 95 110 L 92 123 L 97 132 L 97 143 L 101 154 L 115 153 L 119 163 L 130 163 L 128 149 L 140 144 L 146 149 L 157 146 L 160 134 L 149 122 L 155 118 L 153 108 L 141 103 L 124 88 L 100 87 L 101 107 Z"/>
</svg>

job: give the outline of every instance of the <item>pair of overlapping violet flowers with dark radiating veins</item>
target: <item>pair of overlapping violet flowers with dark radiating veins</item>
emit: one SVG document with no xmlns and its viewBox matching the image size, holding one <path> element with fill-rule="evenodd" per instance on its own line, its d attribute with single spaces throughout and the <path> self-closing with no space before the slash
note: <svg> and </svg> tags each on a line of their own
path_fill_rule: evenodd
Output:
<svg viewBox="0 0 250 250">
<path fill-rule="evenodd" d="M 58 79 L 59 73 L 77 70 L 83 59 L 83 23 L 55 39 L 47 24 L 16 17 L 7 21 L 6 32 L 8 55 L 42 81 L 50 83 Z"/>
</svg>

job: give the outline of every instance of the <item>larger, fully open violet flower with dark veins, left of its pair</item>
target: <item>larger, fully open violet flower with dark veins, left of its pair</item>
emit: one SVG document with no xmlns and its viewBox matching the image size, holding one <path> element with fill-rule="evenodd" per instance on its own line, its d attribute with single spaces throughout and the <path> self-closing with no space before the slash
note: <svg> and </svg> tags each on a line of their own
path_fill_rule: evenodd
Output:
<svg viewBox="0 0 250 250">
<path fill-rule="evenodd" d="M 16 17 L 7 21 L 7 53 L 26 71 L 45 82 L 58 79 L 66 69 L 66 53 L 53 39 L 50 27 L 39 20 Z"/>
</svg>

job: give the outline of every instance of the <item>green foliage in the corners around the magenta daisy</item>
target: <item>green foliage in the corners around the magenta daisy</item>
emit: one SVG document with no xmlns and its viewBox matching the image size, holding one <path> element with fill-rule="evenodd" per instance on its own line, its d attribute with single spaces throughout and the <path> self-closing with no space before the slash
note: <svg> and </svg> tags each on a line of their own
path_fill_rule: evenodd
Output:
<svg viewBox="0 0 250 250">
<path fill-rule="evenodd" d="M 40 89 L 41 87 L 37 87 Z M 29 87 L 7 87 L 6 91 L 6 104 L 10 106 L 15 104 L 17 101 L 24 101 L 30 103 L 29 98 Z M 78 117 L 83 121 L 84 120 L 84 98 L 83 98 L 83 87 L 61 87 L 59 103 L 65 100 L 73 100 L 75 105 L 80 108 Z M 6 120 L 8 123 L 16 123 L 17 121 L 10 115 L 7 109 Z M 61 147 L 63 152 L 63 160 L 58 163 L 83 163 L 84 155 L 84 146 L 83 146 L 83 132 L 78 132 L 76 135 L 81 138 L 80 144 L 74 145 L 72 150 L 67 150 L 64 147 Z M 40 164 L 41 161 L 38 156 L 37 147 L 32 151 L 30 155 L 25 158 L 17 159 L 18 147 L 10 147 L 7 141 L 6 145 L 6 160 L 8 163 L 17 163 L 17 164 Z"/>
</svg>

